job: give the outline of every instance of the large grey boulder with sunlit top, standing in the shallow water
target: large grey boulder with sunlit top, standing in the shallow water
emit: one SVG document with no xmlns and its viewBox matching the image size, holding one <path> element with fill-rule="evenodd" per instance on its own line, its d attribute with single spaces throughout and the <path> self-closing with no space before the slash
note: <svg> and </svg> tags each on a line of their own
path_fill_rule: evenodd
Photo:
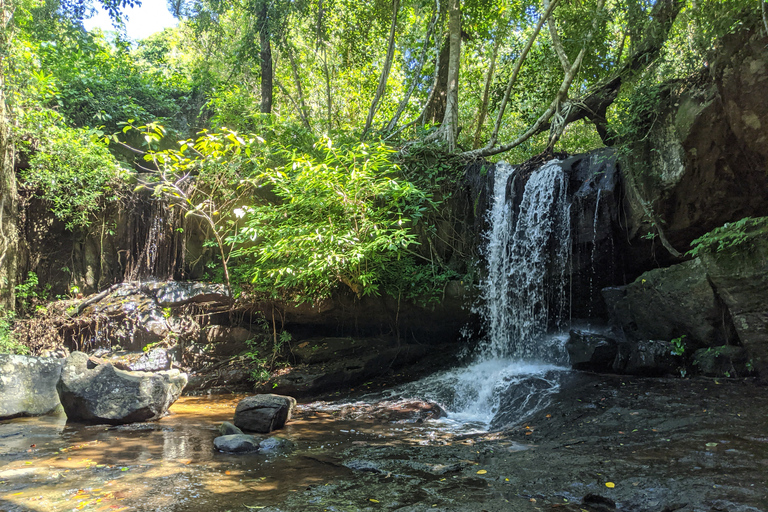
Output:
<svg viewBox="0 0 768 512">
<path fill-rule="evenodd" d="M 123 424 L 161 418 L 186 383 L 186 374 L 178 370 L 118 370 L 73 352 L 64 363 L 57 388 L 70 420 Z"/>
</svg>

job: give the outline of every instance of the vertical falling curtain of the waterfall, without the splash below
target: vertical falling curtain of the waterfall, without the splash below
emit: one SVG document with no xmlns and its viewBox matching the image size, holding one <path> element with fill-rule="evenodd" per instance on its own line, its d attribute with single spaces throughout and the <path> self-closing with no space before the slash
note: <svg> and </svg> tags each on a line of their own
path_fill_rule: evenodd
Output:
<svg viewBox="0 0 768 512">
<path fill-rule="evenodd" d="M 511 166 L 497 164 L 485 235 L 487 339 L 481 352 L 484 358 L 541 358 L 546 354 L 538 338 L 550 324 L 561 326 L 568 310 L 568 182 L 558 160 L 546 163 L 528 179 L 515 216 L 514 198 L 506 194 L 510 176 L 516 179 Z"/>
</svg>

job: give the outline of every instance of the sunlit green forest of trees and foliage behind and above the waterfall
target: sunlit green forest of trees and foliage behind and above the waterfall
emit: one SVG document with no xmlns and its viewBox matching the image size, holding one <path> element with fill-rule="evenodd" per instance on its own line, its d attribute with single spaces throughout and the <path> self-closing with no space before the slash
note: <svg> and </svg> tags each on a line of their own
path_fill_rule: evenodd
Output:
<svg viewBox="0 0 768 512">
<path fill-rule="evenodd" d="M 104 33 L 88 1 L 0 0 L 0 212 L 108 232 L 152 194 L 244 300 L 437 300 L 477 274 L 440 229 L 467 163 L 628 148 L 719 38 L 768 29 L 762 0 L 173 0 L 179 26 L 132 41 L 136 3 L 102 0 Z M 0 274 L 5 328 L 52 298 Z"/>
</svg>

